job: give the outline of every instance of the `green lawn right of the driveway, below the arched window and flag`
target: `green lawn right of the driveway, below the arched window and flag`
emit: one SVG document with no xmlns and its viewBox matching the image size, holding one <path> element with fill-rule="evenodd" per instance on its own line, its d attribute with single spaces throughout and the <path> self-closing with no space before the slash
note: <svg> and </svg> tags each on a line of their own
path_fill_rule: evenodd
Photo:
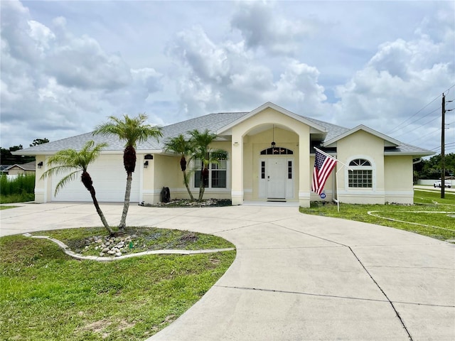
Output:
<svg viewBox="0 0 455 341">
<path fill-rule="evenodd" d="M 395 227 L 440 240 L 455 239 L 455 217 L 451 217 L 451 215 L 455 215 L 455 195 L 446 193 L 445 198 L 441 199 L 439 191 L 428 192 L 416 189 L 414 190 L 414 202 L 414 205 L 341 203 L 340 212 L 334 204 L 323 205 L 322 202 L 311 202 L 311 207 L 301 207 L 300 212 Z M 368 215 L 368 212 L 371 211 L 380 217 Z M 452 214 L 445 212 L 452 212 Z M 405 222 L 395 222 L 385 218 Z M 410 222 L 414 224 L 410 224 Z"/>
</svg>

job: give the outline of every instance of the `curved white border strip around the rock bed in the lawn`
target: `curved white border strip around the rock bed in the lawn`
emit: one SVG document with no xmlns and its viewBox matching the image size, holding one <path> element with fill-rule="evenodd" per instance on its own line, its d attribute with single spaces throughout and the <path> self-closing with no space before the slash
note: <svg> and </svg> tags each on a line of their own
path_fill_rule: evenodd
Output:
<svg viewBox="0 0 455 341">
<path fill-rule="evenodd" d="M 30 238 L 48 239 L 51 242 L 54 242 L 55 244 L 57 244 L 61 249 L 63 249 L 63 251 L 65 251 L 65 254 L 68 254 L 68 256 L 71 256 L 75 259 L 90 260 L 90 261 L 117 261 L 119 259 L 146 256 L 148 254 L 211 254 L 214 252 L 224 252 L 224 251 L 234 251 L 235 250 L 235 248 L 233 248 L 233 247 L 230 247 L 228 249 L 205 249 L 205 250 L 167 249 L 167 250 L 143 251 L 143 252 L 137 252 L 136 254 L 125 254 L 124 256 L 118 256 L 118 257 L 82 256 L 82 254 L 76 254 L 75 252 L 71 251 L 69 249 L 68 245 L 66 245 L 65 243 L 61 242 L 58 239 L 50 238 L 48 236 L 33 236 L 33 234 L 30 234 L 30 233 L 24 233 L 22 235 L 24 237 L 30 237 Z"/>
</svg>

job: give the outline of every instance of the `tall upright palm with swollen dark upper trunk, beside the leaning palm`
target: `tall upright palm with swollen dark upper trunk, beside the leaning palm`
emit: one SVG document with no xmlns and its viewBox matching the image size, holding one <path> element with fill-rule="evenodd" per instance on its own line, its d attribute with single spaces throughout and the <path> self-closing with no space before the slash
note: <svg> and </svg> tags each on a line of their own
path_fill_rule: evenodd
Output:
<svg viewBox="0 0 455 341">
<path fill-rule="evenodd" d="M 125 149 L 123 152 L 123 165 L 127 171 L 127 188 L 125 190 L 125 199 L 120 220 L 119 229 L 124 229 L 127 225 L 127 214 L 129 209 L 129 198 L 131 196 L 132 173 L 136 168 L 136 146 L 139 143 L 145 142 L 150 137 L 158 139 L 163 136 L 161 128 L 144 124 L 147 119 L 146 114 L 139 114 L 138 117 L 130 118 L 127 114 L 123 119 L 114 116 L 109 117 L 109 121 L 104 124 L 99 124 L 95 127 L 94 135 L 102 134 L 107 136 L 117 136 L 120 141 L 125 141 Z"/>
</svg>

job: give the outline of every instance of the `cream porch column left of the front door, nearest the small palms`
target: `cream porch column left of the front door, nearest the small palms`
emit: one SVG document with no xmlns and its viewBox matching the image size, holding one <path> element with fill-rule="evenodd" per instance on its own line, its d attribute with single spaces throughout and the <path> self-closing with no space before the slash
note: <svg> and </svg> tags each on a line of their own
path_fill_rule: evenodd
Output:
<svg viewBox="0 0 455 341">
<path fill-rule="evenodd" d="M 231 153 L 231 200 L 232 205 L 243 204 L 243 136 L 232 131 Z"/>
</svg>

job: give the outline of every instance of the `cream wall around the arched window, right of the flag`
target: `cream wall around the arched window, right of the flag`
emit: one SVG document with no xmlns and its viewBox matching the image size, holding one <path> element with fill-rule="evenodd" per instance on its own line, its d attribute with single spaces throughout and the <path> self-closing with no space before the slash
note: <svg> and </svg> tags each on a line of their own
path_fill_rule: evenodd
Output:
<svg viewBox="0 0 455 341">
<path fill-rule="evenodd" d="M 348 165 L 355 158 L 364 158 L 373 166 L 373 188 L 349 188 L 348 169 L 338 173 L 340 202 L 350 204 L 384 204 L 384 140 L 365 131 L 357 131 L 337 142 L 337 158 Z M 338 167 L 341 165 L 337 164 Z M 411 176 L 412 180 L 412 176 Z"/>
</svg>

